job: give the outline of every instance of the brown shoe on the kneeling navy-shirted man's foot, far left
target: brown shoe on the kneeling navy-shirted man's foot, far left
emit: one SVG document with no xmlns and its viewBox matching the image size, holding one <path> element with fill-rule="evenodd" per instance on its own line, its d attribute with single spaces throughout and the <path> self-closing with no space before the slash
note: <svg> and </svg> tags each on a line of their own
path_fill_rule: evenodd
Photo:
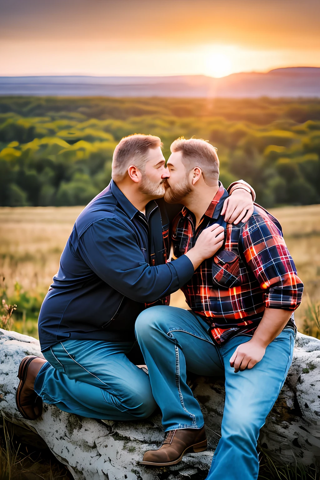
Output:
<svg viewBox="0 0 320 480">
<path fill-rule="evenodd" d="M 47 360 L 34 355 L 24 357 L 20 362 L 18 378 L 20 383 L 15 394 L 15 403 L 21 415 L 27 420 L 36 420 L 42 414 L 42 399 L 34 390 L 34 383 L 40 368 Z"/>
</svg>

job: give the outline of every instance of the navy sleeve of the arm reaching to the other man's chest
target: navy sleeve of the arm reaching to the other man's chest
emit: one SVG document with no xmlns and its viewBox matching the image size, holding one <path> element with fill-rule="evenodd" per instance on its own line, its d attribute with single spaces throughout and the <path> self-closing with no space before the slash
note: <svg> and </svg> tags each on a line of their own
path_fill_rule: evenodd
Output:
<svg viewBox="0 0 320 480">
<path fill-rule="evenodd" d="M 115 217 L 91 225 L 78 249 L 97 276 L 138 302 L 150 303 L 175 292 L 194 273 L 185 255 L 164 265 L 147 264 L 134 232 Z"/>
</svg>

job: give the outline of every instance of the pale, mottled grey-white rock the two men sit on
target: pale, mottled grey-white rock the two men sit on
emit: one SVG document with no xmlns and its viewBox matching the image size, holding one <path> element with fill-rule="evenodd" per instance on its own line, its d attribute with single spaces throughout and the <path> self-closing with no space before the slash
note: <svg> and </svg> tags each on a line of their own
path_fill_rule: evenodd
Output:
<svg viewBox="0 0 320 480">
<path fill-rule="evenodd" d="M 16 375 L 20 361 L 30 354 L 41 356 L 35 338 L 0 329 L 0 412 L 5 419 L 28 429 L 35 439 L 41 437 L 74 479 L 156 480 L 159 474 L 161 479 L 183 479 L 197 472 L 193 478 L 205 478 L 220 438 L 223 379 L 191 376 L 189 380 L 204 414 L 208 451 L 188 454 L 174 467 L 144 468 L 138 463 L 143 452 L 156 448 L 163 439 L 159 413 L 143 422 L 98 421 L 44 404 L 40 419 L 24 420 L 15 406 Z M 259 439 L 261 447 L 278 463 L 319 465 L 319 373 L 320 340 L 298 334 L 287 380 Z"/>
</svg>

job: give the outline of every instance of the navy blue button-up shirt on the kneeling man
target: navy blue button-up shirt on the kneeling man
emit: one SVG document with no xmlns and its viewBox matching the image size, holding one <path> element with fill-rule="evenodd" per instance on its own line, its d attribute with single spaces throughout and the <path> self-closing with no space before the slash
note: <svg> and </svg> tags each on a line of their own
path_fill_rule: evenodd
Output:
<svg viewBox="0 0 320 480">
<path fill-rule="evenodd" d="M 193 275 L 189 258 L 166 262 L 164 219 L 139 212 L 111 181 L 78 216 L 43 301 L 42 350 L 65 339 L 134 340 L 137 315 Z"/>
</svg>

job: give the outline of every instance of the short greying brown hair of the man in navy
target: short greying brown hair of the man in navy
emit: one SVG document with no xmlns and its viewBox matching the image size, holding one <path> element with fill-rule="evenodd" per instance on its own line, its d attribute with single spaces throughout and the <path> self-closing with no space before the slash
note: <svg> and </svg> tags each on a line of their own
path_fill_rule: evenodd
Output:
<svg viewBox="0 0 320 480">
<path fill-rule="evenodd" d="M 112 157 L 112 178 L 115 181 L 123 180 L 128 172 L 128 167 L 134 165 L 144 171 L 145 156 L 149 148 L 162 146 L 159 137 L 134 133 L 123 137 L 116 146 Z"/>
</svg>

